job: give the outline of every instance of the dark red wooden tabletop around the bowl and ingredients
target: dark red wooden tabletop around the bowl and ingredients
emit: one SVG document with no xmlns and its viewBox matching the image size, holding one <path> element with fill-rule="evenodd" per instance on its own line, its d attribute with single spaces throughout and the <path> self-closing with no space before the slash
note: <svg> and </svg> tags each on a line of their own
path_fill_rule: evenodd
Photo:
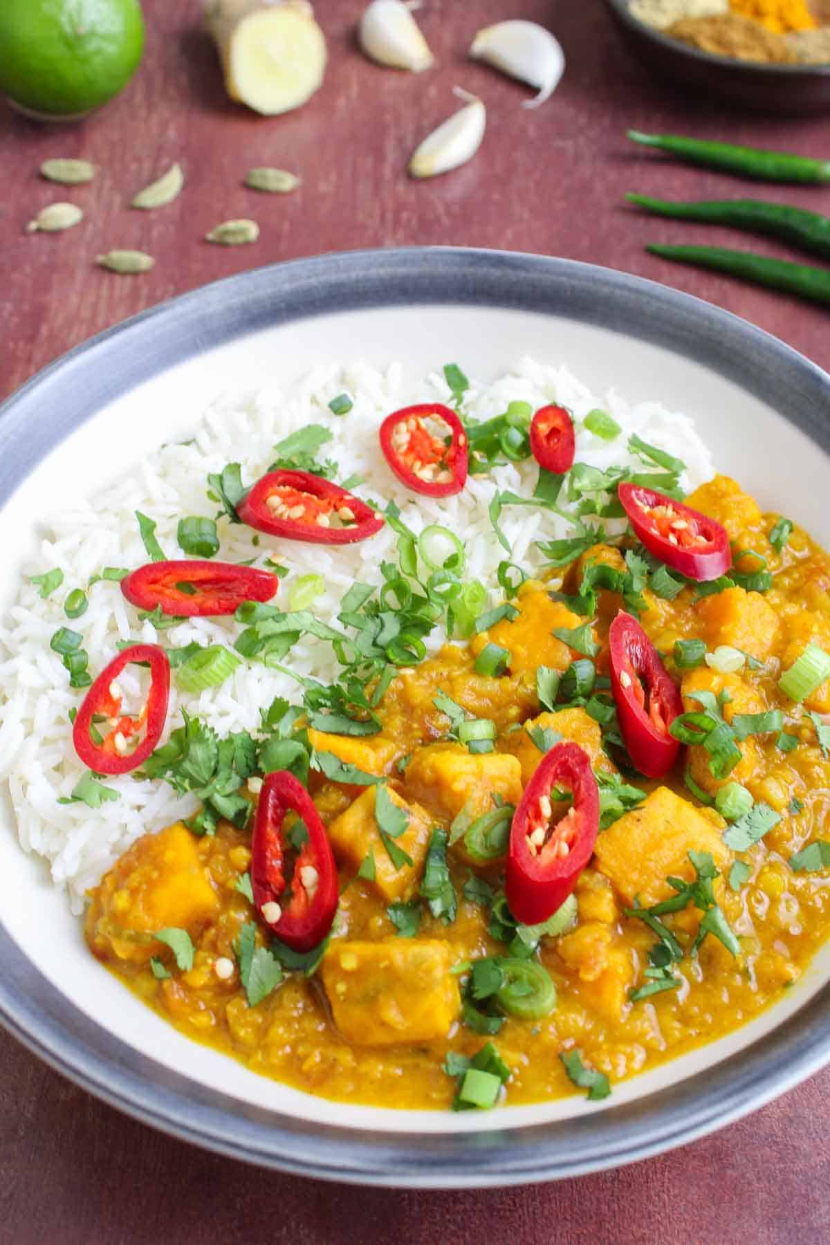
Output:
<svg viewBox="0 0 830 1245">
<path fill-rule="evenodd" d="M 601 0 L 427 0 L 422 26 L 438 67 L 407 76 L 355 49 L 362 0 L 320 0 L 330 44 L 311 103 L 258 118 L 224 96 L 198 0 L 144 0 L 148 44 L 127 91 L 83 125 L 41 127 L 0 106 L 0 397 L 51 359 L 143 308 L 249 266 L 360 247 L 452 243 L 565 255 L 638 273 L 719 304 L 830 364 L 826 311 L 646 255 L 647 240 L 742 245 L 725 230 L 655 222 L 621 207 L 625 190 L 727 197 L 743 187 L 631 149 L 626 127 L 729 137 L 830 153 L 826 117 L 720 112 L 645 78 Z M 467 62 L 479 26 L 505 17 L 550 26 L 567 57 L 539 111 L 525 92 Z M 406 166 L 454 107 L 453 85 L 489 110 L 477 159 L 428 183 Z M 83 156 L 96 182 L 65 193 L 37 177 L 47 156 Z M 132 194 L 180 161 L 187 190 L 153 213 Z M 256 195 L 251 166 L 291 168 L 302 188 Z M 830 189 L 765 189 L 816 210 Z M 83 224 L 27 235 L 44 204 L 70 198 Z M 254 217 L 255 247 L 200 239 Z M 118 278 L 95 266 L 114 247 L 141 248 L 154 271 Z M 759 249 L 785 255 L 774 244 Z M 483 1193 L 389 1193 L 317 1184 L 215 1158 L 128 1120 L 55 1076 L 0 1033 L 0 1241 L 15 1245 L 207 1245 L 221 1241 L 543 1241 L 647 1245 L 799 1245 L 830 1240 L 830 1071 L 724 1132 L 663 1158 L 559 1185 Z"/>
</svg>

